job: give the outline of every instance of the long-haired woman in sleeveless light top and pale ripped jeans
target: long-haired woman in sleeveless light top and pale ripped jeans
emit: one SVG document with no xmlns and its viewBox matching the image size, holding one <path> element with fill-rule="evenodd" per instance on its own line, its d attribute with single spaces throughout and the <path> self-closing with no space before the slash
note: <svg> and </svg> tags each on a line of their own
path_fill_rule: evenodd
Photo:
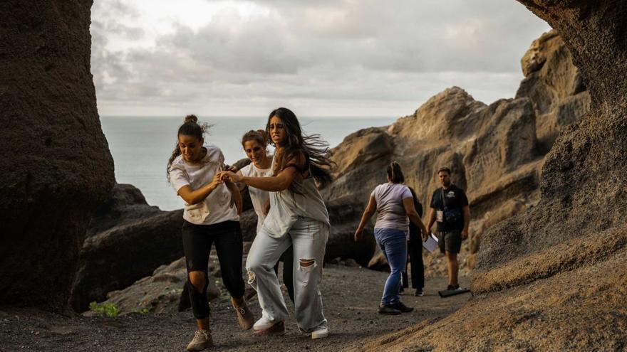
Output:
<svg viewBox="0 0 627 352">
<path fill-rule="evenodd" d="M 294 246 L 294 307 L 299 329 L 311 338 L 328 336 L 318 284 L 322 277 L 329 223 L 316 181 L 331 181 L 328 146 L 318 136 L 304 137 L 294 112 L 280 107 L 270 113 L 266 132 L 276 146 L 273 176 L 247 177 L 225 171 L 232 181 L 270 192 L 270 210 L 254 239 L 246 267 L 257 289 L 261 319 L 255 334 L 284 334 L 288 311 L 272 267 Z"/>
</svg>

